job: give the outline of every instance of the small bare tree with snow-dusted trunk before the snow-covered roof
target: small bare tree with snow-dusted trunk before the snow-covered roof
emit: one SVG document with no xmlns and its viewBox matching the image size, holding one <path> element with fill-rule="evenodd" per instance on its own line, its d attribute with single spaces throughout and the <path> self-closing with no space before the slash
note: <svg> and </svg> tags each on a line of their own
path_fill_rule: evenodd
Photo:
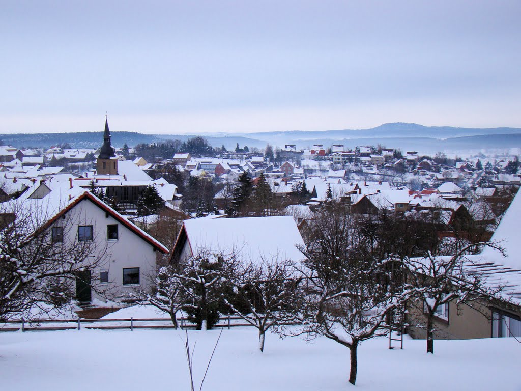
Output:
<svg viewBox="0 0 521 391">
<path fill-rule="evenodd" d="M 235 314 L 258 329 L 261 351 L 271 327 L 297 319 L 299 278 L 292 262 L 277 258 L 252 263 L 244 272 L 231 276 L 236 295 L 225 301 Z"/>
</svg>

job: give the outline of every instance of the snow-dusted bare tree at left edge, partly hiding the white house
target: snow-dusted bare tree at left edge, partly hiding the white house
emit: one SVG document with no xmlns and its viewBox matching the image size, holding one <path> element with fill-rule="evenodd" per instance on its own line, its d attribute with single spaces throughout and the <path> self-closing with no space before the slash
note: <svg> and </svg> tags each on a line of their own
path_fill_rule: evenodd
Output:
<svg viewBox="0 0 521 391">
<path fill-rule="evenodd" d="M 49 224 L 51 217 L 41 206 L 11 204 L 0 211 L 0 318 L 67 306 L 79 274 L 107 261 L 106 248 L 97 248 L 96 240 L 79 241 L 70 233 L 78 224 L 70 214 L 59 225 Z"/>
</svg>

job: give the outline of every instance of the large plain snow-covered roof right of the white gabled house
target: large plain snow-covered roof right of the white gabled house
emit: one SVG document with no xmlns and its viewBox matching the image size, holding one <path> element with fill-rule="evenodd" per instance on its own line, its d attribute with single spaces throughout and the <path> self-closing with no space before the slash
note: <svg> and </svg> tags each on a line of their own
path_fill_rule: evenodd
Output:
<svg viewBox="0 0 521 391">
<path fill-rule="evenodd" d="M 297 249 L 304 241 L 292 216 L 195 218 L 185 220 L 183 229 L 192 254 L 233 253 L 243 262 L 304 258 Z"/>
</svg>

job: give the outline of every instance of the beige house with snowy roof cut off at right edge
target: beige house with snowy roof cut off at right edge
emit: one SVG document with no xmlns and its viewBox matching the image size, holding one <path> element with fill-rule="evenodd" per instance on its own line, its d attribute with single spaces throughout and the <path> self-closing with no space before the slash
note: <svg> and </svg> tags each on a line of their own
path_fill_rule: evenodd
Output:
<svg viewBox="0 0 521 391">
<path fill-rule="evenodd" d="M 517 233 L 520 219 L 518 194 L 491 239 L 503 247 L 506 256 L 490 247 L 480 254 L 465 256 L 468 272 L 478 273 L 493 290 L 502 287 L 500 296 L 491 301 L 477 300 L 473 307 L 454 301 L 443 304 L 436 310 L 436 338 L 521 337 L 521 245 Z M 411 324 L 423 316 L 421 308 L 412 306 L 409 311 Z M 408 334 L 426 337 L 424 329 L 414 326 L 408 327 Z"/>
</svg>

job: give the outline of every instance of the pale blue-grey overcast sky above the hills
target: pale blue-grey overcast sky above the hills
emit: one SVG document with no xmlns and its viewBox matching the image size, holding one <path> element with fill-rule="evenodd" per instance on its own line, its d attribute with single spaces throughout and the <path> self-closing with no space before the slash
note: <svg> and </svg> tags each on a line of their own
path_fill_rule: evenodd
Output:
<svg viewBox="0 0 521 391">
<path fill-rule="evenodd" d="M 521 127 L 521 2 L 0 0 L 0 133 Z"/>
</svg>

